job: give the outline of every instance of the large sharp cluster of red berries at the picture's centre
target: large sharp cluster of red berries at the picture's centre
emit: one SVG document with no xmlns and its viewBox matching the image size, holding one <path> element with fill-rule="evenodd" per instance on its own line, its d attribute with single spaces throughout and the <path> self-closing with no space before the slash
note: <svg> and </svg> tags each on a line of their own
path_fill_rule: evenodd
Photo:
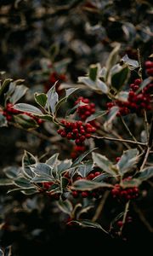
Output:
<svg viewBox="0 0 153 256">
<path fill-rule="evenodd" d="M 77 146 L 82 146 L 84 141 L 92 136 L 96 128 L 90 124 L 83 124 L 82 121 L 69 122 L 63 119 L 61 125 L 64 129 L 59 129 L 58 133 L 61 137 L 68 140 L 74 140 Z"/>
</svg>

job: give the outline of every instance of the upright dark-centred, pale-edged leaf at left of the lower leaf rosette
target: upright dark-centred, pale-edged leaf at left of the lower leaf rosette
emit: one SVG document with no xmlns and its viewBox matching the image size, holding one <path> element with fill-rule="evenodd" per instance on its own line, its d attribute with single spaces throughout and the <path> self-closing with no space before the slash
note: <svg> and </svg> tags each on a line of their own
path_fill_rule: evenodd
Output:
<svg viewBox="0 0 153 256">
<path fill-rule="evenodd" d="M 31 165 L 35 165 L 37 163 L 36 157 L 33 154 L 29 153 L 25 150 L 24 155 L 22 157 L 22 171 L 26 175 L 26 177 L 34 177 L 34 173 L 31 172 Z"/>
</svg>

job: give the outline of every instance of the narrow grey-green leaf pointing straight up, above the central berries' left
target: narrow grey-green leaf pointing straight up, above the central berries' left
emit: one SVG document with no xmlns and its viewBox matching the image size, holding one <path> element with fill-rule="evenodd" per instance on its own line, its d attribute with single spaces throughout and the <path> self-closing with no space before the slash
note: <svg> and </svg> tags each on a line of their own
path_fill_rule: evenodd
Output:
<svg viewBox="0 0 153 256">
<path fill-rule="evenodd" d="M 56 104 L 59 102 L 59 95 L 56 92 L 55 86 L 57 82 L 48 90 L 47 96 L 48 96 L 48 101 L 47 101 L 47 107 L 48 109 L 51 109 L 51 113 L 55 112 L 56 109 Z"/>
</svg>

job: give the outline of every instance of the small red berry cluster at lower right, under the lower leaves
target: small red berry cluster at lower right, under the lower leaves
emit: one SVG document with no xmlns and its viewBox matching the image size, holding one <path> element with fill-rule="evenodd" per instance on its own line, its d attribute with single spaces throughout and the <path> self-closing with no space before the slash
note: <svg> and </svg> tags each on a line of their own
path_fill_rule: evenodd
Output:
<svg viewBox="0 0 153 256">
<path fill-rule="evenodd" d="M 114 188 L 111 190 L 111 195 L 114 198 L 128 201 L 138 197 L 139 189 L 136 186 L 123 189 L 120 184 L 116 184 Z"/>
</svg>

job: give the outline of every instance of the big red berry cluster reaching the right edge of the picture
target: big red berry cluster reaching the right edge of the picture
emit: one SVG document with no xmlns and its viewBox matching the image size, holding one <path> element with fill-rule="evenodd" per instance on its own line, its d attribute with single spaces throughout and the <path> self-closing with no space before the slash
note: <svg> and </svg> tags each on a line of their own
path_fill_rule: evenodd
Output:
<svg viewBox="0 0 153 256">
<path fill-rule="evenodd" d="M 142 109 L 150 110 L 150 91 L 153 90 L 153 84 L 148 84 L 137 93 L 139 89 L 139 84 L 141 84 L 140 79 L 135 79 L 133 84 L 130 84 L 130 90 L 128 92 L 127 102 L 122 102 L 116 100 L 115 102 L 108 102 L 107 108 L 110 110 L 114 106 L 119 107 L 117 116 L 127 115 L 128 113 L 141 113 Z"/>
</svg>

